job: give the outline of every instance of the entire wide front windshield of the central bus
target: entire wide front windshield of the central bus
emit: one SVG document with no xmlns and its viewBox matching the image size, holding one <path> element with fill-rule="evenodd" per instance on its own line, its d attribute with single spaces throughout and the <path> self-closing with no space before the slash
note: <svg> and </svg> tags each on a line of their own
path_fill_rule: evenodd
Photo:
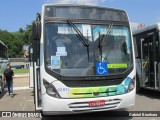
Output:
<svg viewBox="0 0 160 120">
<path fill-rule="evenodd" d="M 109 25 L 74 25 L 81 34 L 68 23 L 45 24 L 47 69 L 63 76 L 95 76 L 101 75 L 96 72 L 97 64 L 100 70 L 105 66 L 103 75 L 120 74 L 132 66 L 128 27 L 112 25 L 109 29 Z M 80 35 L 88 47 L 84 46 Z"/>
</svg>

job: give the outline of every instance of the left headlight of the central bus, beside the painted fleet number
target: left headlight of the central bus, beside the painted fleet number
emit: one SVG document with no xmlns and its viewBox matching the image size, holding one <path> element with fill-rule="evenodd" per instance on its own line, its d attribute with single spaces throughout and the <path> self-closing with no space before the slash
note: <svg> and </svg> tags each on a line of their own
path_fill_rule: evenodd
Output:
<svg viewBox="0 0 160 120">
<path fill-rule="evenodd" d="M 43 79 L 43 84 L 46 88 L 46 93 L 49 96 L 60 98 L 60 95 L 58 94 L 56 88 L 51 83 L 48 83 L 46 80 Z"/>
</svg>

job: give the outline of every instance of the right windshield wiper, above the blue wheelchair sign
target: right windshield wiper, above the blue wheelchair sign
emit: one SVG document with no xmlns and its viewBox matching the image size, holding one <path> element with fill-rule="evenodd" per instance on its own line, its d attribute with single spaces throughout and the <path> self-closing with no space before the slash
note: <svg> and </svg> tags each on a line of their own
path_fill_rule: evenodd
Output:
<svg viewBox="0 0 160 120">
<path fill-rule="evenodd" d="M 100 38 L 101 37 L 101 34 L 100 34 L 100 32 L 99 32 L 99 44 L 98 44 L 98 48 L 99 48 L 99 52 L 100 52 L 100 56 L 101 56 L 101 62 L 102 62 L 102 47 L 103 47 L 103 45 L 104 45 L 104 40 L 108 40 L 108 37 L 109 37 L 109 35 L 110 35 L 110 33 L 111 33 L 111 30 L 112 30 L 112 26 L 113 26 L 113 23 L 111 22 L 110 24 L 109 24 L 109 26 L 108 26 L 108 30 L 107 30 L 107 33 L 105 34 L 105 35 L 103 35 L 102 36 L 102 38 Z"/>
</svg>

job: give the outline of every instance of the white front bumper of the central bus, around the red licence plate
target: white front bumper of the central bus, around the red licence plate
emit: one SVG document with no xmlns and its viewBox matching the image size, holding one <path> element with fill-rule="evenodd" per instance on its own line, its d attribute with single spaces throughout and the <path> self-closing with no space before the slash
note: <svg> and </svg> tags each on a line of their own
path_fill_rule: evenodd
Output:
<svg viewBox="0 0 160 120">
<path fill-rule="evenodd" d="M 90 101 L 105 101 L 103 106 L 89 106 Z M 44 115 L 76 114 L 95 111 L 121 109 L 135 104 L 135 89 L 127 94 L 82 99 L 57 99 L 47 94 L 42 95 Z"/>
</svg>

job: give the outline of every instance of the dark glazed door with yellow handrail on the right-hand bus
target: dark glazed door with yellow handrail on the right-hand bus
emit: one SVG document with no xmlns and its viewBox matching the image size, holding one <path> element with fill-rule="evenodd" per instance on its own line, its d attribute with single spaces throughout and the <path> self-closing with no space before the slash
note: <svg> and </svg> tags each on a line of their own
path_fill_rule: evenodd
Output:
<svg viewBox="0 0 160 120">
<path fill-rule="evenodd" d="M 155 36 L 141 39 L 141 72 L 143 87 L 157 88 L 157 52 L 158 41 Z"/>
</svg>

